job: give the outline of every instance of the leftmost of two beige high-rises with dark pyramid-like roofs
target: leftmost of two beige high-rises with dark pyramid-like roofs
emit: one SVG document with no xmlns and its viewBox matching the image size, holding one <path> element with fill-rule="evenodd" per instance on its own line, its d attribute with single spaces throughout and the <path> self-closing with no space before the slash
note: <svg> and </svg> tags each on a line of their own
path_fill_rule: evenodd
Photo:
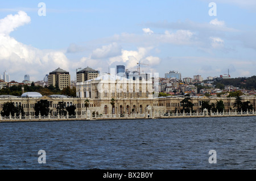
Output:
<svg viewBox="0 0 256 181">
<path fill-rule="evenodd" d="M 70 87 L 69 72 L 60 68 L 50 72 L 48 76 L 48 85 L 59 87 L 60 90 Z"/>
</svg>

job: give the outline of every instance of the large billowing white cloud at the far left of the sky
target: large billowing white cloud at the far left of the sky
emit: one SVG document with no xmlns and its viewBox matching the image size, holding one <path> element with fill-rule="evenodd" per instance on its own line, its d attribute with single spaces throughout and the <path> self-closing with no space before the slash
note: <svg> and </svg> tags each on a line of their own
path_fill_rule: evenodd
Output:
<svg viewBox="0 0 256 181">
<path fill-rule="evenodd" d="M 16 41 L 9 34 L 20 26 L 30 23 L 26 12 L 19 11 L 15 15 L 7 15 L 0 20 L 0 64 L 2 71 L 7 70 L 11 77 L 19 77 L 15 81 L 23 81 L 24 74 L 42 80 L 46 73 L 57 69 L 69 69 L 69 61 L 65 54 L 56 50 L 40 50 Z"/>
</svg>

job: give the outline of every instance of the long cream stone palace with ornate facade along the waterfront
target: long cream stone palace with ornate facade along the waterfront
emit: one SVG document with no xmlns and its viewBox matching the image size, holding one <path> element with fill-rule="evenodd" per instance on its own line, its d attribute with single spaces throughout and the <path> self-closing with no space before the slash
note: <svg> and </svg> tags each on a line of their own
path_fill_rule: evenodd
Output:
<svg viewBox="0 0 256 181">
<path fill-rule="evenodd" d="M 165 113 L 180 113 L 181 101 L 184 95 L 158 97 L 158 92 L 154 92 L 152 81 L 142 79 L 127 79 L 113 74 L 101 74 L 100 76 L 84 82 L 76 83 L 76 98 L 65 95 L 41 95 L 38 92 L 24 92 L 22 96 L 0 95 L 0 111 L 3 104 L 13 102 L 16 107 L 24 108 L 26 116 L 35 115 L 34 105 L 40 100 L 48 100 L 50 103 L 50 115 L 57 115 L 59 102 L 64 102 L 66 106 L 75 106 L 77 115 L 85 115 L 86 111 L 94 112 L 97 115 L 134 115 L 148 114 L 150 117 L 163 115 Z M 202 102 L 216 106 L 217 101 L 224 102 L 225 112 L 235 112 L 234 104 L 236 98 L 220 98 L 216 96 L 191 96 L 193 112 L 203 112 Z M 256 96 L 241 95 L 242 102 L 249 101 L 256 109 Z M 85 107 L 85 100 L 89 101 L 89 106 Z"/>
</svg>

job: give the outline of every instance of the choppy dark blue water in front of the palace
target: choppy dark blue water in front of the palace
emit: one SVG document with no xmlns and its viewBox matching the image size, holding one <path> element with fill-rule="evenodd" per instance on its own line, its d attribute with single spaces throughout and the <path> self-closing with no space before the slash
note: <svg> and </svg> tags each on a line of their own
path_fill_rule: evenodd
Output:
<svg viewBox="0 0 256 181">
<path fill-rule="evenodd" d="M 0 169 L 255 169 L 255 131 L 256 117 L 0 123 Z"/>
</svg>

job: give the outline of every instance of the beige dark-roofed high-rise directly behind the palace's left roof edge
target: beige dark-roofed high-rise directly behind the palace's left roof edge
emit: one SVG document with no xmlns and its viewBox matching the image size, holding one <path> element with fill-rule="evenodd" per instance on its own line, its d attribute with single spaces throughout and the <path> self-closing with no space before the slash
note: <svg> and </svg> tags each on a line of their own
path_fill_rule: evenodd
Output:
<svg viewBox="0 0 256 181">
<path fill-rule="evenodd" d="M 100 71 L 86 67 L 85 69 L 78 69 L 76 73 L 76 82 L 84 82 L 98 77 Z"/>
</svg>

